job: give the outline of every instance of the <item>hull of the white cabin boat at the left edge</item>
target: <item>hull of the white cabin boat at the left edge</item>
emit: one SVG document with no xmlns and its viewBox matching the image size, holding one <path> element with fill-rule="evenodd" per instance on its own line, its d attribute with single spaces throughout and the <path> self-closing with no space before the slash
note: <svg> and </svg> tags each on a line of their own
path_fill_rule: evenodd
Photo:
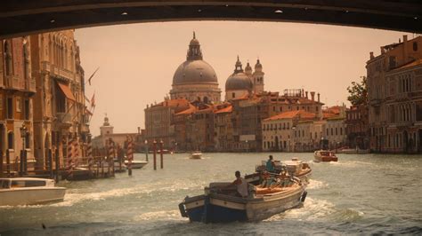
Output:
<svg viewBox="0 0 422 236">
<path fill-rule="evenodd" d="M 27 187 L 0 190 L 0 206 L 37 205 L 63 201 L 66 188 Z"/>
</svg>

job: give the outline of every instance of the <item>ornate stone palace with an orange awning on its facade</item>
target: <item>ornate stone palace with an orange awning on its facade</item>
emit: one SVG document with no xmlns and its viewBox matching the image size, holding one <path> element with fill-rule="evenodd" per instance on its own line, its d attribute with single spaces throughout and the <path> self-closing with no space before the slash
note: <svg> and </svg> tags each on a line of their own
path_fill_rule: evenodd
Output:
<svg viewBox="0 0 422 236">
<path fill-rule="evenodd" d="M 77 140 L 80 156 L 85 156 L 89 133 L 85 106 L 84 69 L 74 30 L 31 35 L 32 75 L 37 81 L 34 97 L 35 156 L 45 168 L 49 149 L 58 151 L 61 167 L 69 140 Z"/>
</svg>

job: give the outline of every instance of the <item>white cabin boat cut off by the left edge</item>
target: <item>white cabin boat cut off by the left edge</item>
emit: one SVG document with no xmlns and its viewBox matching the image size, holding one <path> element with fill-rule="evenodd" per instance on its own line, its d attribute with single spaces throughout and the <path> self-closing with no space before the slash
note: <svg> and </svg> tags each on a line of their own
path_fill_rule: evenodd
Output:
<svg viewBox="0 0 422 236">
<path fill-rule="evenodd" d="M 66 188 L 53 179 L 37 177 L 0 178 L 0 206 L 37 205 L 63 201 Z"/>
</svg>

